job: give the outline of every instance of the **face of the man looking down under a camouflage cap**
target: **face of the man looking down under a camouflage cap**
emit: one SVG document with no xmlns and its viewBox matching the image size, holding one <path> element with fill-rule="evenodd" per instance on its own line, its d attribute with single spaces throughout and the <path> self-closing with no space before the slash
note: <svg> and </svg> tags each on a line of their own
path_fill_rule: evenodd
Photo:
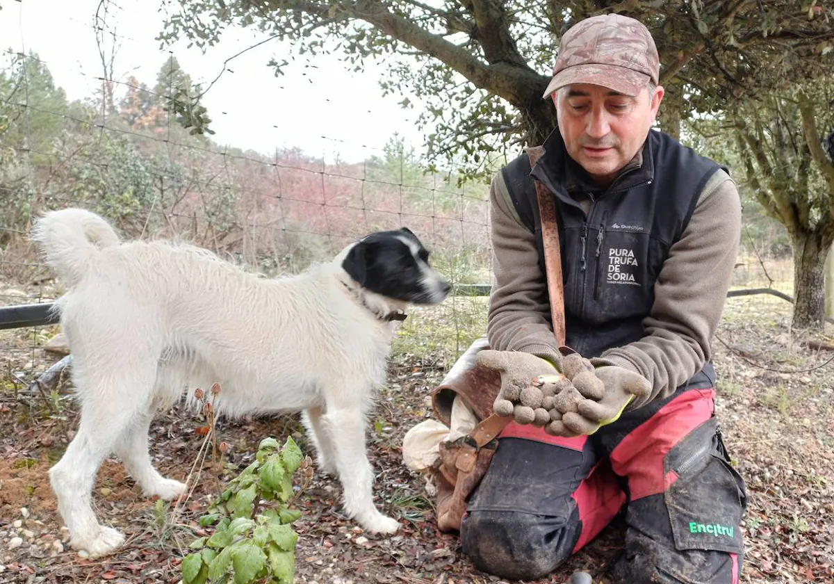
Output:
<svg viewBox="0 0 834 584">
<path fill-rule="evenodd" d="M 565 148 L 598 184 L 610 184 L 646 141 L 663 88 L 636 97 L 579 83 L 553 95 Z"/>
</svg>

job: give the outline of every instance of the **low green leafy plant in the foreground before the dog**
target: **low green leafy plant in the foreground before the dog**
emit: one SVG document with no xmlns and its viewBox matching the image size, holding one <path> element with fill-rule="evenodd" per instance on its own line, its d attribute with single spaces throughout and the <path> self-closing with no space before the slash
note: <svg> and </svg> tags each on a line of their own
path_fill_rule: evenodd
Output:
<svg viewBox="0 0 834 584">
<path fill-rule="evenodd" d="M 299 493 L 313 476 L 312 461 L 289 437 L 284 446 L 265 438 L 255 461 L 229 482 L 229 488 L 200 517 L 214 534 L 190 544 L 194 551 L 183 558 L 183 584 L 290 584 L 295 575 L 292 523 L 301 511 L 291 509 L 298 494 L 293 475 L 301 471 Z"/>
</svg>

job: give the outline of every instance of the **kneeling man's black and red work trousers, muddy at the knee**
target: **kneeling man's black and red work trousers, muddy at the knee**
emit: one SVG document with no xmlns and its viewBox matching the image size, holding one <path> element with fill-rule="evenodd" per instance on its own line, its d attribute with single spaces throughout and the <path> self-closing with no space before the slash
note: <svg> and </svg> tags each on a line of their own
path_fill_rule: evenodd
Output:
<svg viewBox="0 0 834 584">
<path fill-rule="evenodd" d="M 721 440 L 711 388 L 679 390 L 594 435 L 510 423 L 470 497 L 463 551 L 481 571 L 546 576 L 625 506 L 623 584 L 736 584 L 744 481 Z"/>
</svg>

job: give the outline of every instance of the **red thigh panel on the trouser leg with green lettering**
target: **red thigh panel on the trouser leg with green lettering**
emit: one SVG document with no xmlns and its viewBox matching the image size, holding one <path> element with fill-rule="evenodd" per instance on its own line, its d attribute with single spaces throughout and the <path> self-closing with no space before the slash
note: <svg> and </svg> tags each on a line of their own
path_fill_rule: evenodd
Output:
<svg viewBox="0 0 834 584">
<path fill-rule="evenodd" d="M 631 501 L 666 491 L 676 476 L 666 477 L 663 459 L 681 439 L 709 420 L 715 390 L 689 390 L 637 426 L 611 451 L 611 468 L 628 477 Z"/>
</svg>

